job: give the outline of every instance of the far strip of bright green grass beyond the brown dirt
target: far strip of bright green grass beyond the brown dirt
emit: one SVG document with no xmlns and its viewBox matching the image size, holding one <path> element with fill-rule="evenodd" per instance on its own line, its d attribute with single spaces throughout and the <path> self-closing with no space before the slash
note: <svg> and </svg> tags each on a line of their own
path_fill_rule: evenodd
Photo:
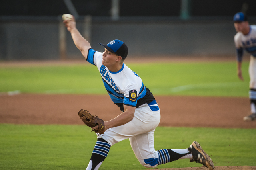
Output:
<svg viewBox="0 0 256 170">
<path fill-rule="evenodd" d="M 127 64 L 154 95 L 248 96 L 248 62 L 244 81 L 236 63 Z M 93 65 L 0 68 L 0 92 L 106 94 Z"/>
</svg>

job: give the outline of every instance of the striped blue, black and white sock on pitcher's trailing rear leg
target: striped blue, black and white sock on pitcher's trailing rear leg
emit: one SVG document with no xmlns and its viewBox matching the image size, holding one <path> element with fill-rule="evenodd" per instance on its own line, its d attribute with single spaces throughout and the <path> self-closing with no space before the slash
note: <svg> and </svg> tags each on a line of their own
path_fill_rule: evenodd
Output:
<svg viewBox="0 0 256 170">
<path fill-rule="evenodd" d="M 166 164 L 178 159 L 192 158 L 188 149 L 161 149 L 158 150 L 158 165 Z"/>
</svg>

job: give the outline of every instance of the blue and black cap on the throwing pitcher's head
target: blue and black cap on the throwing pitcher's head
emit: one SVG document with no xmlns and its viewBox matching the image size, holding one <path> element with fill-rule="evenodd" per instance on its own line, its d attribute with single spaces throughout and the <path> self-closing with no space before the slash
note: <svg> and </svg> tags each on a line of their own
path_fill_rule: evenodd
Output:
<svg viewBox="0 0 256 170">
<path fill-rule="evenodd" d="M 112 53 L 121 56 L 122 59 L 125 59 L 127 57 L 128 47 L 123 41 L 115 39 L 113 41 L 110 41 L 107 45 L 102 43 L 99 44 L 105 47 L 107 50 L 111 51 Z"/>
</svg>

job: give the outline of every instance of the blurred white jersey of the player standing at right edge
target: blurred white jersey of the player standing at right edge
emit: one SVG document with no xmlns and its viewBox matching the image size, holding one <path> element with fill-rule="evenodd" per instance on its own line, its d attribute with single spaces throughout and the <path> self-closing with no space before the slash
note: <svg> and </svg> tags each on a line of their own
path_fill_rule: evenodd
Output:
<svg viewBox="0 0 256 170">
<path fill-rule="evenodd" d="M 250 32 L 244 35 L 242 32 L 236 33 L 234 36 L 236 45 L 237 60 L 242 61 L 243 49 L 256 57 L 256 25 L 250 25 Z"/>
</svg>

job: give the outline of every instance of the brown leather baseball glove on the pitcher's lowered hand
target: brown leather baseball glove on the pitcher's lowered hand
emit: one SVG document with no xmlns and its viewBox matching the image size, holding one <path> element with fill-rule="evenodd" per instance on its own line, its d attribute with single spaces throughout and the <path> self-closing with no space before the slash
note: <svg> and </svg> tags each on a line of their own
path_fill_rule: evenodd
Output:
<svg viewBox="0 0 256 170">
<path fill-rule="evenodd" d="M 94 129 L 92 131 L 98 133 L 98 134 L 104 134 L 105 132 L 105 124 L 102 119 L 100 119 L 98 116 L 91 115 L 87 110 L 81 109 L 78 111 L 78 116 L 80 119 L 89 127 L 95 127 L 99 125 L 98 129 Z"/>
</svg>

